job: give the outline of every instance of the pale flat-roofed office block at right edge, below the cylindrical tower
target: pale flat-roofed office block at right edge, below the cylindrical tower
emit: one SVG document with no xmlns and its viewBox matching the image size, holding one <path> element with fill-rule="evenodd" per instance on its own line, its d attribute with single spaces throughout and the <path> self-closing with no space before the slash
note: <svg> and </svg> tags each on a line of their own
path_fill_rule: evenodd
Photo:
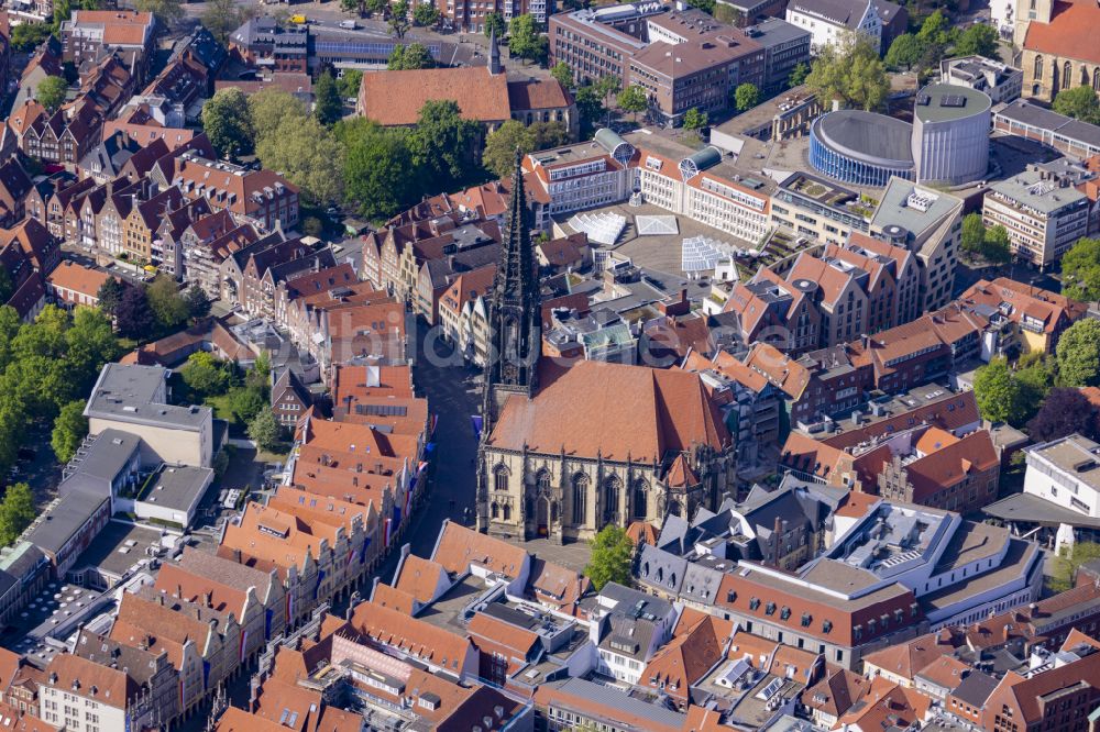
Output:
<svg viewBox="0 0 1100 732">
<path fill-rule="evenodd" d="M 1070 180 L 1032 168 L 990 186 L 981 218 L 987 226 L 1004 226 L 1012 253 L 1046 267 L 1088 233 L 1088 196 Z"/>
</svg>

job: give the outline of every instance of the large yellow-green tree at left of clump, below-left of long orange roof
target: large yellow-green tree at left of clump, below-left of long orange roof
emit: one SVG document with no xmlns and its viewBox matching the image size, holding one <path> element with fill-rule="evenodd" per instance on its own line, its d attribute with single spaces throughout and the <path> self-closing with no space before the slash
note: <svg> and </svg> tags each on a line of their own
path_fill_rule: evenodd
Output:
<svg viewBox="0 0 1100 732">
<path fill-rule="evenodd" d="M 264 167 L 278 170 L 307 202 L 317 204 L 343 200 L 344 155 L 343 144 L 314 118 L 287 118 L 275 134 L 256 144 Z"/>
</svg>

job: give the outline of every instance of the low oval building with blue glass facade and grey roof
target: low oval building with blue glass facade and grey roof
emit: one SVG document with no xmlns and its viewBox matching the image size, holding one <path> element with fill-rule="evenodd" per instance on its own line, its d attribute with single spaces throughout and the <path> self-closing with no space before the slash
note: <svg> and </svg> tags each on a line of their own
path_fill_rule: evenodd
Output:
<svg viewBox="0 0 1100 732">
<path fill-rule="evenodd" d="M 862 110 L 839 110 L 810 127 L 810 165 L 857 186 L 913 178 L 913 125 Z"/>
</svg>

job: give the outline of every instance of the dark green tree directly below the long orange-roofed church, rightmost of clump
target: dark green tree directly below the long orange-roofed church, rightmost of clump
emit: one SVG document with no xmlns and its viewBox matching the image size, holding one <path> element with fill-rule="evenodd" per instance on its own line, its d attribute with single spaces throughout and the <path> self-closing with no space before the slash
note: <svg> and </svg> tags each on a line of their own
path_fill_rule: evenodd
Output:
<svg viewBox="0 0 1100 732">
<path fill-rule="evenodd" d="M 425 102 L 417 125 L 409 134 L 413 162 L 442 188 L 464 179 L 474 167 L 474 145 L 481 127 L 462 119 L 458 102 L 450 99 Z"/>
</svg>

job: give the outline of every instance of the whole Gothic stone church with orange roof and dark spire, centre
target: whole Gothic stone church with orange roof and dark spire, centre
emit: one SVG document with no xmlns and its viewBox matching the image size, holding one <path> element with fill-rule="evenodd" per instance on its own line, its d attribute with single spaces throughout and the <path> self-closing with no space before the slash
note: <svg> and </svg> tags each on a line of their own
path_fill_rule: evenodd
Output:
<svg viewBox="0 0 1100 732">
<path fill-rule="evenodd" d="M 697 375 L 541 359 L 527 220 L 517 154 L 490 306 L 479 530 L 576 541 L 607 524 L 713 508 L 732 484 L 733 440 Z"/>
</svg>

